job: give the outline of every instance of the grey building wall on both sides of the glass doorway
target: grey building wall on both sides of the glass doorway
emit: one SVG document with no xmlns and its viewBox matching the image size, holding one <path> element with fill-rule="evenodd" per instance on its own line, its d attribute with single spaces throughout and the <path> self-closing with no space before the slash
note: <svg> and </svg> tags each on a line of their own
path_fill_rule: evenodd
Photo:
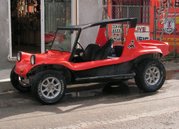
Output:
<svg viewBox="0 0 179 129">
<path fill-rule="evenodd" d="M 0 0 L 0 70 L 10 69 L 14 62 L 8 61 L 9 54 L 9 19 L 8 0 Z M 79 0 L 79 24 L 93 23 L 102 20 L 102 0 Z M 86 46 L 94 43 L 97 29 L 82 34 L 81 43 Z M 93 41 L 91 40 L 93 39 Z"/>
</svg>

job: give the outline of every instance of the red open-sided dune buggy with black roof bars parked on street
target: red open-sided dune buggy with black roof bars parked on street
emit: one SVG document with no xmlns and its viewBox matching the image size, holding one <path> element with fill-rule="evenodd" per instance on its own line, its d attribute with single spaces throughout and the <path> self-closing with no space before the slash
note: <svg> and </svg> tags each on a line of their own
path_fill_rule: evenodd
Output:
<svg viewBox="0 0 179 129">
<path fill-rule="evenodd" d="M 137 86 L 143 91 L 157 91 L 166 77 L 160 59 L 169 53 L 168 43 L 137 41 L 134 35 L 136 24 L 136 18 L 123 18 L 58 27 L 50 50 L 42 54 L 17 54 L 11 83 L 21 92 L 31 90 L 44 104 L 60 101 L 68 84 L 135 78 Z M 127 30 L 121 31 L 119 26 L 124 25 Z M 113 31 L 117 36 L 112 35 L 111 28 L 115 26 L 118 29 Z M 97 36 L 95 42 L 85 43 L 87 46 L 84 48 L 80 35 L 89 28 L 97 28 L 98 31 L 93 31 Z M 121 32 L 126 36 L 120 39 L 118 33 L 120 35 Z M 74 43 L 70 39 L 72 34 L 76 35 Z M 56 35 L 64 35 L 64 38 Z"/>
</svg>

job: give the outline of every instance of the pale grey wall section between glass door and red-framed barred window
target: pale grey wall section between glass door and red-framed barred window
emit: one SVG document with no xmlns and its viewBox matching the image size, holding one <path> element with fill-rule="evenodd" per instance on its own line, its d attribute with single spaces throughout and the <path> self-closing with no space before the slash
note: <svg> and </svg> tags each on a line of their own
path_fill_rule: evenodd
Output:
<svg viewBox="0 0 179 129">
<path fill-rule="evenodd" d="M 93 23 L 102 20 L 102 0 L 79 0 L 79 24 Z M 85 47 L 95 43 L 97 28 L 84 31 L 80 42 Z"/>
</svg>

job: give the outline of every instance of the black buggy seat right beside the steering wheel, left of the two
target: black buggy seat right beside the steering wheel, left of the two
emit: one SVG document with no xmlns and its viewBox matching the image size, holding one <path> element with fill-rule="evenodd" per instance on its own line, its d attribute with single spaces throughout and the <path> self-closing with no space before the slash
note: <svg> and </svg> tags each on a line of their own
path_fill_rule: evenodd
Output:
<svg viewBox="0 0 179 129">
<path fill-rule="evenodd" d="M 89 44 L 85 51 L 84 51 L 84 56 L 83 60 L 84 61 L 92 61 L 95 58 L 96 52 L 100 50 L 99 45 L 97 44 Z"/>
</svg>

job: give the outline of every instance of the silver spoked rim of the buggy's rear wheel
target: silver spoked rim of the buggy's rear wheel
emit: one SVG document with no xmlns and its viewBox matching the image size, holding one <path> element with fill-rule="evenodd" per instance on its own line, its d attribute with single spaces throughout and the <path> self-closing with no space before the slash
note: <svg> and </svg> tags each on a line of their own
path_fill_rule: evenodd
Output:
<svg viewBox="0 0 179 129">
<path fill-rule="evenodd" d="M 144 76 L 145 82 L 148 85 L 153 86 L 158 83 L 158 81 L 160 80 L 160 76 L 161 74 L 158 67 L 156 66 L 149 67 L 145 71 L 145 76 Z"/>
</svg>

